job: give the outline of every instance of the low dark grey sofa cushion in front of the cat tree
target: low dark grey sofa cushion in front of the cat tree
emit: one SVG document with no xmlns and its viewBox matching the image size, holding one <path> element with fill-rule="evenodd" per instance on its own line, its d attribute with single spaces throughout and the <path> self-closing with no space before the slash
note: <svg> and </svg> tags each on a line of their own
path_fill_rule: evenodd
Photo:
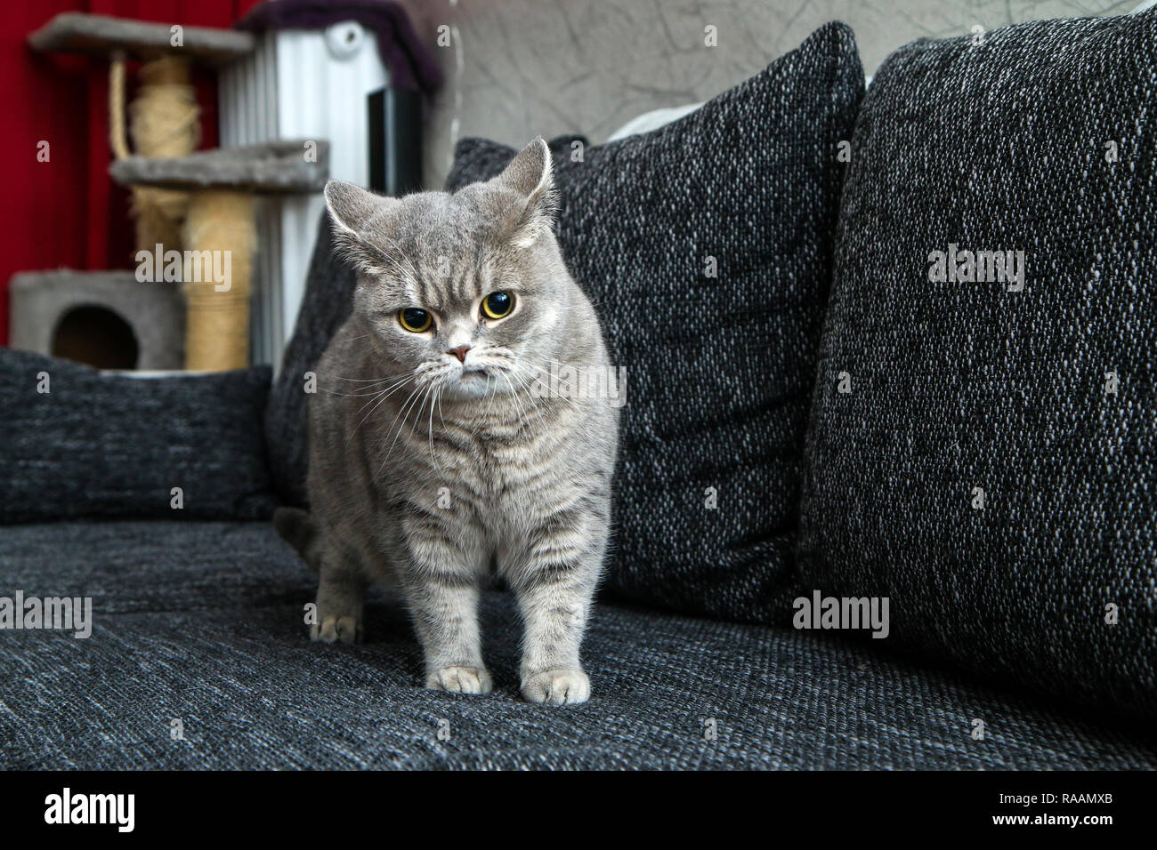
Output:
<svg viewBox="0 0 1157 850">
<path fill-rule="evenodd" d="M 268 367 L 132 377 L 0 349 L 0 523 L 268 517 Z"/>
</svg>

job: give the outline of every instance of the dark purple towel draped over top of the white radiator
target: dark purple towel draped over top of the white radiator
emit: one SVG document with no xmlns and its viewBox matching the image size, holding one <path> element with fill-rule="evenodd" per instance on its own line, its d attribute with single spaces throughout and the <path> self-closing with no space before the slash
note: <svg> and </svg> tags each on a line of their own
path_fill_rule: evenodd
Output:
<svg viewBox="0 0 1157 850">
<path fill-rule="evenodd" d="M 442 69 L 418 38 L 406 10 L 390 0 L 266 0 L 234 27 L 325 29 L 340 21 L 356 21 L 377 34 L 377 51 L 395 88 L 429 95 L 442 84 Z"/>
</svg>

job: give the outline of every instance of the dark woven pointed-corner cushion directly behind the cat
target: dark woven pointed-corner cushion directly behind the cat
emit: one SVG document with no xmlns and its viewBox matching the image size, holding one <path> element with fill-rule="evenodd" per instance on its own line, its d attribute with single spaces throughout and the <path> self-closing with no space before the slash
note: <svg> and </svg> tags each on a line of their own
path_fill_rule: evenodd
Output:
<svg viewBox="0 0 1157 850">
<path fill-rule="evenodd" d="M 607 585 L 627 598 L 750 622 L 775 612 L 838 146 L 862 95 L 852 30 L 831 23 L 678 121 L 557 157 L 562 253 L 626 368 Z M 456 153 L 451 190 L 515 154 L 484 140 Z"/>
</svg>

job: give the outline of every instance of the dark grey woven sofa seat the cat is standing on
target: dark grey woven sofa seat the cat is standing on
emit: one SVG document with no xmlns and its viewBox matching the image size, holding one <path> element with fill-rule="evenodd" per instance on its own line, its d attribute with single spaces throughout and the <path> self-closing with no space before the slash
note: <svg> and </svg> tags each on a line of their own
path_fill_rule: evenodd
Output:
<svg viewBox="0 0 1157 850">
<path fill-rule="evenodd" d="M 370 603 L 364 643 L 310 643 L 314 582 L 261 523 L 6 529 L 0 596 L 90 596 L 94 628 L 84 640 L 0 633 L 0 764 L 1157 767 L 1151 733 L 879 657 L 871 643 L 618 605 L 595 606 L 583 705 L 518 696 L 518 620 L 500 593 L 482 605 L 495 693 L 423 690 L 417 641 L 388 599 Z M 170 737 L 175 718 L 184 740 Z M 705 739 L 710 718 L 716 740 Z"/>
</svg>

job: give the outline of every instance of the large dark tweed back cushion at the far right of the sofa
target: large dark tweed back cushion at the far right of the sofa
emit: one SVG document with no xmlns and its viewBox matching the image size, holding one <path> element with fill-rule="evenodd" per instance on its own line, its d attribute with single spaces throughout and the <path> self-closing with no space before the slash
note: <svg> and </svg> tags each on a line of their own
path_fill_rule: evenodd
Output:
<svg viewBox="0 0 1157 850">
<path fill-rule="evenodd" d="M 889 642 L 1148 717 L 1155 112 L 1152 12 L 883 65 L 853 139 L 801 532 L 805 586 L 889 597 Z M 1024 251 L 1023 291 L 930 280 L 950 245 Z"/>
</svg>

